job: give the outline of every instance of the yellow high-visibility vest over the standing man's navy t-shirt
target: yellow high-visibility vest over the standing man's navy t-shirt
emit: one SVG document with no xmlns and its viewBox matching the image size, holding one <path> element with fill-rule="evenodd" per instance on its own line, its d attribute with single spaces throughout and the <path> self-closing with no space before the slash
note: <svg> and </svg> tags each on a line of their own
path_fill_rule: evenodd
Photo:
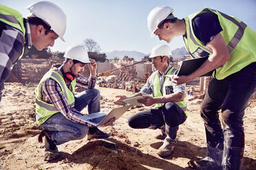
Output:
<svg viewBox="0 0 256 170">
<path fill-rule="evenodd" d="M 226 42 L 228 52 L 231 56 L 231 59 L 223 66 L 215 69 L 216 73 L 213 72 L 213 76 L 217 80 L 222 80 L 225 77 L 228 77 L 228 75 L 240 71 L 248 64 L 256 62 L 256 34 L 253 32 L 253 29 L 250 29 L 250 27 L 234 16 L 228 16 L 227 14 L 209 8 L 205 8 L 200 12 L 196 12 L 195 14 L 191 14 L 184 18 L 186 23 L 186 38 L 184 37 L 183 40 L 186 51 L 188 51 L 193 58 L 195 58 L 193 53 L 197 51 L 198 48 L 208 52 L 209 56 L 212 54 L 211 51 L 206 49 L 204 44 L 195 36 L 191 22 L 195 16 L 205 12 L 205 10 L 210 10 L 214 14 L 217 14 L 223 29 L 220 33 Z"/>
</svg>

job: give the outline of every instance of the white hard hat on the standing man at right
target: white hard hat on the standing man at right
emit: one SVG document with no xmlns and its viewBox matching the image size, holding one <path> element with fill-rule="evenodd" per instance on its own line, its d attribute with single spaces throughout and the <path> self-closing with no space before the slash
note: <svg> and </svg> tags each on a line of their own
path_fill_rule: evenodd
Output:
<svg viewBox="0 0 256 170">
<path fill-rule="evenodd" d="M 167 19 L 167 16 L 173 14 L 173 12 L 173 8 L 167 6 L 158 6 L 149 12 L 149 16 L 147 16 L 147 26 L 149 27 L 149 32 L 151 32 L 151 37 L 155 35 L 154 32 L 156 32 L 156 29 L 158 29 L 158 25 L 161 23 L 161 21 Z M 172 16 L 170 19 L 173 18 L 174 16 Z"/>
</svg>

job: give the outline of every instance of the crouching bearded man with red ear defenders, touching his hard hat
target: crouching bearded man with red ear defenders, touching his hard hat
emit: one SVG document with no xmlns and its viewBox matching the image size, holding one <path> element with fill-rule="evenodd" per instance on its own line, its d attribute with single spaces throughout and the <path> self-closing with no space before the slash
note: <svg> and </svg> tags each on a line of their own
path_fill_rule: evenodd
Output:
<svg viewBox="0 0 256 170">
<path fill-rule="evenodd" d="M 39 142 L 45 136 L 45 160 L 58 156 L 56 145 L 67 141 L 87 138 L 108 138 L 110 134 L 102 132 L 98 127 L 88 125 L 78 119 L 83 116 L 81 110 L 88 106 L 88 113 L 100 111 L 100 92 L 94 88 L 96 83 L 97 64 L 88 58 L 87 51 L 81 45 L 69 47 L 64 54 L 65 61 L 57 69 L 50 69 L 36 87 L 36 123 L 43 131 L 39 134 Z M 89 79 L 81 73 L 89 66 Z M 88 86 L 74 95 L 76 83 Z M 109 125 L 109 121 L 105 125 Z"/>
</svg>

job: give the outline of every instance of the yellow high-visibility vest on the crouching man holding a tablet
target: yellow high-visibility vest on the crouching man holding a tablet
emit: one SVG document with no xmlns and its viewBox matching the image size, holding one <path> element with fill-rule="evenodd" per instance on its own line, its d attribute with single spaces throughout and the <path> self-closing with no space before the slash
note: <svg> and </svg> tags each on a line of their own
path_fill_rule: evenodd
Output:
<svg viewBox="0 0 256 170">
<path fill-rule="evenodd" d="M 178 70 L 174 69 L 172 67 L 171 69 L 169 69 L 169 71 L 167 72 L 166 75 L 174 75 L 176 73 L 176 71 L 178 71 Z M 162 97 L 162 96 L 167 95 L 166 87 L 170 86 L 170 84 L 173 88 L 173 83 L 170 82 L 170 78 L 165 77 L 164 85 L 162 86 L 162 93 L 161 93 L 161 91 L 160 91 L 160 77 L 158 75 L 158 71 L 155 71 L 151 74 L 151 76 L 149 77 L 149 84 L 153 85 L 153 97 Z M 184 98 L 183 101 L 175 102 L 175 104 L 178 104 L 178 106 L 180 106 L 180 108 L 182 108 L 182 110 L 184 111 L 186 116 L 188 115 L 188 113 L 186 111 L 186 97 Z M 160 107 L 163 106 L 163 104 L 156 104 L 156 106 L 158 106 L 158 108 L 160 108 Z"/>
</svg>

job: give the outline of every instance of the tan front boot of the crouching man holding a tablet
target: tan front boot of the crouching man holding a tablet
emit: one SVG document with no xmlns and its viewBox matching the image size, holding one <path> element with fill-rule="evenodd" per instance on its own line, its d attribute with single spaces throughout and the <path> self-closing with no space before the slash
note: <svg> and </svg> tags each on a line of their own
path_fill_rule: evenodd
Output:
<svg viewBox="0 0 256 170">
<path fill-rule="evenodd" d="M 156 153 L 162 158 L 170 156 L 173 153 L 176 143 L 177 143 L 176 139 L 172 139 L 169 136 L 167 136 L 164 139 L 164 143 Z"/>
</svg>

